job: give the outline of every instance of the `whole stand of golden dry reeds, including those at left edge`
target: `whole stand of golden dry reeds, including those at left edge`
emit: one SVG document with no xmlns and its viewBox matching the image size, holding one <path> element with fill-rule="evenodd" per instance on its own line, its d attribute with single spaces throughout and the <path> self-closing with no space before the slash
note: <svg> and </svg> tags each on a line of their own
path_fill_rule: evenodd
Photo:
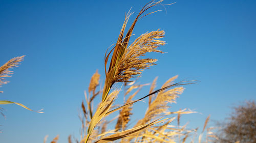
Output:
<svg viewBox="0 0 256 143">
<path fill-rule="evenodd" d="M 80 141 L 77 143 L 87 142 L 185 142 L 189 136 L 196 134 L 197 129 L 186 129 L 185 126 L 180 126 L 180 117 L 182 114 L 193 113 L 193 111 L 183 109 L 179 111 L 169 111 L 170 104 L 176 102 L 176 98 L 183 92 L 184 88 L 179 85 L 192 84 L 194 81 L 181 81 L 173 83 L 178 77 L 174 76 L 169 78 L 160 89 L 155 90 L 157 78 L 151 84 L 150 92 L 148 95 L 134 99 L 139 93 L 140 89 L 146 84 L 136 84 L 133 80 L 134 77 L 139 77 L 141 72 L 155 65 L 156 59 L 145 58 L 143 56 L 147 52 L 160 52 L 157 48 L 164 45 L 165 42 L 160 40 L 164 36 L 164 31 L 153 31 L 145 33 L 138 37 L 133 43 L 130 44 L 130 37 L 132 36 L 133 29 L 136 22 L 145 15 L 142 15 L 146 10 L 153 6 L 159 5 L 161 1 L 151 2 L 145 5 L 134 22 L 132 23 L 129 31 L 124 36 L 126 23 L 131 16 L 128 13 L 125 16 L 124 23 L 121 28 L 116 45 L 109 53 L 105 54 L 105 82 L 103 90 L 97 90 L 99 85 L 100 75 L 98 71 L 92 76 L 89 86 L 89 96 L 86 92 L 86 105 L 82 102 L 83 114 L 80 116 L 82 122 Z M 154 12 L 152 12 L 154 13 Z M 112 53 L 113 52 L 113 53 Z M 111 61 L 109 62 L 109 58 Z M 23 60 L 24 56 L 14 58 L 0 68 L 0 86 L 7 83 L 3 81 L 3 77 L 9 76 L 11 73 L 8 69 L 14 67 Z M 109 64 L 108 70 L 106 69 Z M 114 105 L 117 95 L 121 89 L 113 89 L 113 84 L 116 82 L 123 82 L 125 93 L 123 95 L 124 104 L 121 106 Z M 177 87 L 179 86 L 179 87 Z M 134 92 L 134 90 L 136 90 Z M 97 109 L 93 110 L 93 101 L 96 96 L 102 93 L 102 100 L 98 104 Z M 145 112 L 144 118 L 139 120 L 131 127 L 130 120 L 133 110 L 133 104 L 148 97 L 148 108 Z M 0 101 L 0 104 L 15 103 L 11 101 Z M 19 103 L 15 103 L 19 104 Z M 19 104 L 22 105 L 22 104 Z M 24 105 L 22 105 L 24 107 Z M 27 108 L 25 106 L 25 108 Z M 117 118 L 113 120 L 106 120 L 107 116 L 111 116 L 113 112 L 119 111 Z M 177 116 L 177 118 L 176 118 Z M 170 123 L 177 121 L 178 125 L 170 125 Z M 204 132 L 209 118 L 206 119 L 202 133 Z M 111 128 L 108 125 L 116 122 L 115 127 Z M 210 132 L 208 128 L 206 141 L 209 142 L 210 137 L 215 135 Z M 194 136 L 195 137 L 195 136 Z M 47 138 L 47 137 L 46 137 Z M 46 138 L 45 141 L 46 142 Z M 202 134 L 199 136 L 201 142 Z M 195 139 L 195 138 L 194 138 Z M 191 142 L 194 142 L 191 139 Z M 56 136 L 51 143 L 57 142 Z M 72 142 L 69 136 L 69 142 Z"/>
</svg>

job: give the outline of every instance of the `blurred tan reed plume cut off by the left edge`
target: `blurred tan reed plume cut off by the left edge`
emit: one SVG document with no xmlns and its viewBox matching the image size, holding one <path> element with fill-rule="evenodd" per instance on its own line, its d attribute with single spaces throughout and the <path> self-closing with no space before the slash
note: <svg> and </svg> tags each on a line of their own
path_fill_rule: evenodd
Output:
<svg viewBox="0 0 256 143">
<path fill-rule="evenodd" d="M 2 87 L 2 84 L 8 83 L 8 81 L 5 81 L 4 77 L 11 77 L 10 74 L 13 73 L 13 71 L 10 71 L 9 69 L 13 67 L 17 67 L 19 62 L 22 62 L 24 59 L 24 56 L 17 56 L 16 58 L 12 58 L 7 63 L 5 63 L 2 67 L 0 67 L 0 87 Z M 0 93 L 3 93 L 3 91 L 0 91 Z"/>
</svg>

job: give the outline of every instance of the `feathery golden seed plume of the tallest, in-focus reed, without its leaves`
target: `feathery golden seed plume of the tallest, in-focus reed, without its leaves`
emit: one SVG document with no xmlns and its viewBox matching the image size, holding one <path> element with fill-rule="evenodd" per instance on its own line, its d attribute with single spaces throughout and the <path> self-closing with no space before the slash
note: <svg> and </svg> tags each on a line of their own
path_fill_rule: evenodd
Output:
<svg viewBox="0 0 256 143">
<path fill-rule="evenodd" d="M 161 52 L 156 48 L 165 42 L 157 40 L 162 38 L 164 31 L 153 31 L 137 38 L 131 46 L 125 49 L 124 54 L 117 64 L 114 81 L 129 82 L 132 77 L 137 77 L 146 68 L 155 65 L 156 59 L 141 59 L 140 56 L 147 52 Z"/>
</svg>

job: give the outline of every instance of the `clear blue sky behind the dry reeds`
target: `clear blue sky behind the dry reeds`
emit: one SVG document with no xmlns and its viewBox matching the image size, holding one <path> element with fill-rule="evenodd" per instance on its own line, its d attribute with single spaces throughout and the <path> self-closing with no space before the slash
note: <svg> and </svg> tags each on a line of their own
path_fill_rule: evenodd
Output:
<svg viewBox="0 0 256 143">
<path fill-rule="evenodd" d="M 116 42 L 125 12 L 135 18 L 148 1 L 0 1 L 0 64 L 26 55 L 3 85 L 1 100 L 23 103 L 3 105 L 0 142 L 42 142 L 57 134 L 68 142 L 79 137 L 77 117 L 83 91 L 96 69 L 104 80 L 105 50 Z M 223 120 L 230 106 L 256 99 L 256 1 L 164 1 L 161 12 L 141 19 L 134 38 L 148 31 L 165 31 L 165 54 L 150 54 L 158 65 L 143 72 L 140 83 L 159 76 L 158 88 L 169 77 L 193 78 L 200 83 L 186 90 L 173 109 L 188 107 L 202 114 L 182 116 L 189 127 L 202 127 L 210 114 Z M 129 24 L 131 24 L 131 21 Z M 148 92 L 148 88 L 144 93 Z M 141 93 L 143 95 L 143 93 Z M 144 113 L 140 102 L 133 119 Z M 140 109 L 139 109 L 140 108 Z"/>
</svg>

